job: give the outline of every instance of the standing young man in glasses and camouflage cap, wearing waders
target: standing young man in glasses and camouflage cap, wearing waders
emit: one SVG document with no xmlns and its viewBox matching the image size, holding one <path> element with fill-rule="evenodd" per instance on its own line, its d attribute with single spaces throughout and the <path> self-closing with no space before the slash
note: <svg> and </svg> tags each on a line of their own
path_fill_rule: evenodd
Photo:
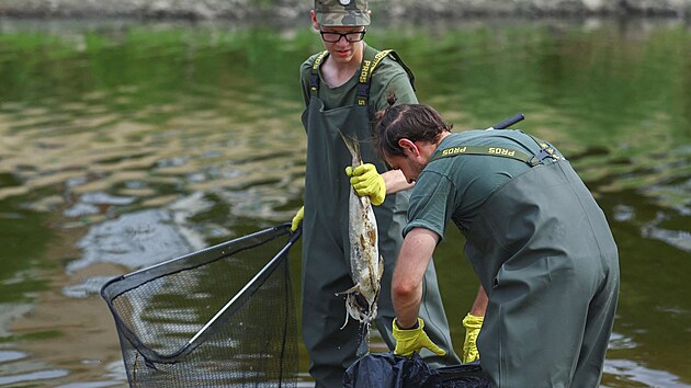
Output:
<svg viewBox="0 0 691 388">
<path fill-rule="evenodd" d="M 394 307 L 390 279 L 406 224 L 409 189 L 400 171 L 387 171 L 373 149 L 374 113 L 387 106 L 395 93 L 401 102 L 416 103 L 411 75 L 393 52 L 380 52 L 363 41 L 370 25 L 366 0 L 316 0 L 311 25 L 325 50 L 301 67 L 307 109 L 307 167 L 304 206 L 293 219 L 303 224 L 302 333 L 309 354 L 309 374 L 317 387 L 342 387 L 346 369 L 366 352 L 367 339 L 355 320 L 346 321 L 343 296 L 336 293 L 353 286 L 350 275 L 348 206 L 353 187 L 369 195 L 380 233 L 380 254 L 385 260 L 375 326 L 394 349 Z M 340 136 L 358 138 L 365 164 L 351 171 L 351 155 Z M 351 179 L 353 180 L 351 186 Z M 397 194 L 386 195 L 389 192 Z M 435 366 L 457 364 L 442 307 L 434 266 L 422 277 L 420 315 L 427 331 L 441 349 L 422 356 Z"/>
</svg>

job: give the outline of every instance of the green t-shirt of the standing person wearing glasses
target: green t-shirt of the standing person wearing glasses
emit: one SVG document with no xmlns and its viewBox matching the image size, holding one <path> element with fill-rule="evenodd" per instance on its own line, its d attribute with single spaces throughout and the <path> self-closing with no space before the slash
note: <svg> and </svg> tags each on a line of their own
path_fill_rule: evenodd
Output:
<svg viewBox="0 0 691 388">
<path fill-rule="evenodd" d="M 309 72 L 315 62 L 317 53 L 309 57 L 301 66 L 301 84 L 303 88 L 303 99 L 305 105 L 309 103 Z M 324 61 L 321 62 L 324 65 Z M 332 110 L 341 106 L 351 106 L 355 103 L 355 93 L 358 87 L 358 78 L 360 72 L 355 72 L 353 77 L 337 88 L 329 88 L 319 72 L 319 100 L 324 102 L 325 110 Z M 395 91 L 398 104 L 417 104 L 418 99 L 415 95 L 408 73 L 394 59 L 388 56 L 382 59 L 372 73 L 370 83 L 370 105 L 374 106 L 375 112 L 385 109 L 388 92 Z"/>
</svg>

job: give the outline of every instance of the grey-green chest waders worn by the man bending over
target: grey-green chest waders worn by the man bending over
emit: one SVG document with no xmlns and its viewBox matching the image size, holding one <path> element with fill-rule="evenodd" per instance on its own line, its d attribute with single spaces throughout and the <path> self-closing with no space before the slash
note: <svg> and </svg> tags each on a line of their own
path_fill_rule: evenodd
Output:
<svg viewBox="0 0 691 388">
<path fill-rule="evenodd" d="M 495 191 L 464 232 L 489 296 L 480 364 L 501 388 L 598 387 L 619 295 L 618 250 L 570 163 L 536 141 L 534 156 L 501 147 L 438 153 L 532 167 Z"/>
</svg>

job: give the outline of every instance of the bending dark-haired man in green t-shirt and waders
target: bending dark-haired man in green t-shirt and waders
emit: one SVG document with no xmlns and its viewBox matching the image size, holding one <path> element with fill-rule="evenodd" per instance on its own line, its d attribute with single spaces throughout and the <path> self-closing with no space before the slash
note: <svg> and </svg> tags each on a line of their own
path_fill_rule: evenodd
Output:
<svg viewBox="0 0 691 388">
<path fill-rule="evenodd" d="M 376 129 L 386 161 L 416 182 L 392 285 L 395 353 L 434 346 L 421 284 L 451 220 L 487 290 L 477 349 L 492 385 L 598 387 L 620 283 L 603 212 L 552 145 L 451 128 L 414 104 L 388 107 Z"/>
</svg>

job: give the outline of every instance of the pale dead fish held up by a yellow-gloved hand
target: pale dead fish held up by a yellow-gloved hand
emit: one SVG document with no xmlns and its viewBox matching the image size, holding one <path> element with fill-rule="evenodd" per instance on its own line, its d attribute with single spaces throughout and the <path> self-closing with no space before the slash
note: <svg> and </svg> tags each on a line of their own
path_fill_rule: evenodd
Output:
<svg viewBox="0 0 691 388">
<path fill-rule="evenodd" d="M 352 156 L 352 168 L 362 164 L 358 139 L 350 140 L 341 134 Z M 348 213 L 350 239 L 350 271 L 354 286 L 336 295 L 346 295 L 346 323 L 352 317 L 370 326 L 376 317 L 380 281 L 384 273 L 384 260 L 380 255 L 376 218 L 369 196 L 359 196 L 351 187 Z"/>
</svg>

